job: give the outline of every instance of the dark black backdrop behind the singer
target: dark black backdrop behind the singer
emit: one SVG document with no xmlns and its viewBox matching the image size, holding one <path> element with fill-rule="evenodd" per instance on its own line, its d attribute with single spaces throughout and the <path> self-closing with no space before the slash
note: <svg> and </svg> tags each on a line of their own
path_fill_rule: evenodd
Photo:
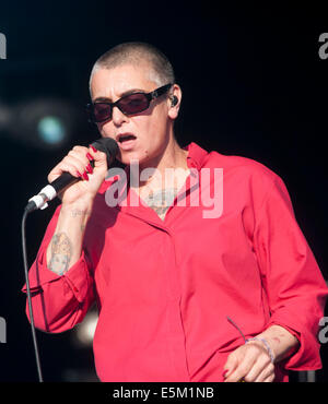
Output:
<svg viewBox="0 0 328 404">
<path fill-rule="evenodd" d="M 247 3 L 247 4 L 246 4 Z M 176 123 L 181 145 L 190 141 L 222 154 L 257 159 L 284 180 L 297 222 L 324 273 L 327 269 L 328 59 L 318 38 L 328 32 L 324 2 L 311 7 L 255 2 L 5 2 L 0 32 L 0 110 L 20 103 L 60 98 L 71 103 L 72 135 L 60 147 L 43 148 L 24 117 L 11 115 L 1 135 L 0 380 L 36 381 L 25 297 L 21 217 L 47 174 L 77 143 L 97 138 L 84 116 L 94 61 L 121 41 L 157 46 L 173 62 L 183 88 Z M 21 117 L 21 118 L 20 118 Z M 56 203 L 27 221 L 30 263 Z M 300 308 L 302 310 L 302 308 Z M 95 380 L 91 347 L 74 344 L 74 331 L 37 332 L 46 381 Z M 327 346 L 318 381 L 328 380 Z M 291 373 L 297 381 L 297 375 Z"/>
</svg>

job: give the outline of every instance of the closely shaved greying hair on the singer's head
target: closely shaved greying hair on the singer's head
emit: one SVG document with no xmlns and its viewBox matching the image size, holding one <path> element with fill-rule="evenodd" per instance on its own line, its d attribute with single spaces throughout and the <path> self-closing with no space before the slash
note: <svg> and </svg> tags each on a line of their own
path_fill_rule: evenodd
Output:
<svg viewBox="0 0 328 404">
<path fill-rule="evenodd" d="M 90 88 L 92 76 L 97 70 L 114 69 L 122 64 L 149 64 L 150 80 L 159 86 L 175 83 L 173 67 L 161 50 L 147 43 L 132 41 L 117 45 L 97 59 L 91 72 Z"/>
</svg>

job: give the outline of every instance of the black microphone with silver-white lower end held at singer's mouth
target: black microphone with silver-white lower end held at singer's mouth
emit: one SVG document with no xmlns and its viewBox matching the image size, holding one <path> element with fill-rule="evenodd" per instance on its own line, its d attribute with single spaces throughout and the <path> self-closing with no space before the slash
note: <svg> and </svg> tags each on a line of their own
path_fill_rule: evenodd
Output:
<svg viewBox="0 0 328 404">
<path fill-rule="evenodd" d="M 110 138 L 101 138 L 91 143 L 91 145 L 107 155 L 107 167 L 109 167 L 118 152 L 118 145 L 116 141 Z M 91 165 L 93 165 L 93 162 L 91 162 Z M 68 186 L 71 186 L 80 180 L 81 178 L 74 177 L 70 173 L 62 173 L 52 182 L 43 188 L 38 194 L 28 200 L 25 211 L 33 212 L 37 209 L 46 209 L 48 206 L 48 201 L 51 201 L 54 198 L 56 198 L 57 194 Z"/>
</svg>

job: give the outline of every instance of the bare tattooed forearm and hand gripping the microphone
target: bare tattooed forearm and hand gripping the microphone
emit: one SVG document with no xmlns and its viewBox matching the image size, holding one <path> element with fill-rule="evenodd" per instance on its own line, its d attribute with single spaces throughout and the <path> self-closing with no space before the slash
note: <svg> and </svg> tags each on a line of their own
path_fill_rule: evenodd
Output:
<svg viewBox="0 0 328 404">
<path fill-rule="evenodd" d="M 91 159 L 94 161 L 94 168 L 90 165 Z M 93 147 L 75 146 L 50 171 L 49 182 L 63 171 L 81 177 L 82 180 L 62 192 L 60 214 L 47 249 L 48 269 L 58 275 L 69 271 L 81 257 L 84 229 L 93 201 L 107 171 L 106 155 Z"/>
</svg>

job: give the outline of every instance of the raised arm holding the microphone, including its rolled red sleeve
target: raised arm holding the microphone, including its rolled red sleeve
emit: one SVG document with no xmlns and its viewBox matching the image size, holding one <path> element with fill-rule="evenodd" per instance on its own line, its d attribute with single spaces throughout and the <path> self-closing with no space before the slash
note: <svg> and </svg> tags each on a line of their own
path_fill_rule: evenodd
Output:
<svg viewBox="0 0 328 404">
<path fill-rule="evenodd" d="M 87 166 L 91 158 L 93 170 Z M 83 320 L 94 301 L 93 276 L 82 243 L 94 198 L 106 176 L 106 155 L 75 146 L 51 170 L 49 182 L 63 171 L 73 176 L 81 173 L 83 180 L 61 193 L 62 203 L 47 227 L 28 272 L 34 322 L 46 332 L 70 330 Z M 26 293 L 26 285 L 23 292 Z M 30 319 L 27 301 L 26 314 Z"/>
</svg>

